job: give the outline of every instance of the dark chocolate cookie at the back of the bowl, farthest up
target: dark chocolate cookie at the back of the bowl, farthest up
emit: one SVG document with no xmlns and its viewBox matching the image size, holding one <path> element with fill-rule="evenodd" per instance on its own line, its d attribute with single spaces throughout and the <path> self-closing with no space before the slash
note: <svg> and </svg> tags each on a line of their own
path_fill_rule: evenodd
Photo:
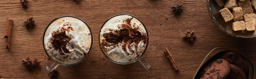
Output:
<svg viewBox="0 0 256 79">
<path fill-rule="evenodd" d="M 227 52 L 221 56 L 221 59 L 226 59 L 230 64 L 236 65 L 240 68 L 244 73 L 248 71 L 248 64 L 247 62 L 235 52 Z"/>
</svg>

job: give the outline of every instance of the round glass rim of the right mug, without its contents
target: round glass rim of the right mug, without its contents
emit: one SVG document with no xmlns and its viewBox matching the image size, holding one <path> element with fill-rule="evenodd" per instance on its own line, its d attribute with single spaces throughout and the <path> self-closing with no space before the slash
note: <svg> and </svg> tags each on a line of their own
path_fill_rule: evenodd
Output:
<svg viewBox="0 0 256 79">
<path fill-rule="evenodd" d="M 103 53 L 108 59 L 110 59 L 112 62 L 115 62 L 115 63 L 117 63 L 117 64 L 126 65 L 126 64 L 131 64 L 131 63 L 137 62 L 137 61 L 140 60 L 140 59 L 143 57 L 143 55 L 145 54 L 145 52 L 146 52 L 146 50 L 147 50 L 147 48 L 148 48 L 148 40 L 149 40 L 149 39 L 148 39 L 148 30 L 147 30 L 146 26 L 144 25 L 144 23 L 142 23 L 142 21 L 141 21 L 139 18 L 137 18 L 137 17 L 135 17 L 135 16 L 133 16 L 133 15 L 131 15 L 131 14 L 116 14 L 116 15 L 114 15 L 114 16 L 108 18 L 108 20 L 106 20 L 105 23 L 107 23 L 107 22 L 108 22 L 109 20 L 111 20 L 113 17 L 120 16 L 120 15 L 128 15 L 128 16 L 134 17 L 134 18 L 136 18 L 137 20 L 139 20 L 140 23 L 141 23 L 141 24 L 143 25 L 143 27 L 145 28 L 145 31 L 146 31 L 146 34 L 147 34 L 147 43 L 146 43 L 145 49 L 144 49 L 143 53 L 140 55 L 140 57 L 138 57 L 137 59 L 134 59 L 134 60 L 131 61 L 131 62 L 116 62 L 116 61 L 112 60 L 111 58 L 109 58 L 109 57 L 105 54 L 105 52 L 103 51 L 102 45 L 101 45 L 101 43 L 100 43 L 100 32 L 101 32 L 101 30 L 99 31 L 99 46 L 100 46 L 100 49 L 101 49 L 102 53 Z M 102 27 L 101 27 L 100 29 L 103 28 L 103 26 L 105 25 L 105 23 L 103 23 L 103 25 L 102 25 Z"/>
</svg>

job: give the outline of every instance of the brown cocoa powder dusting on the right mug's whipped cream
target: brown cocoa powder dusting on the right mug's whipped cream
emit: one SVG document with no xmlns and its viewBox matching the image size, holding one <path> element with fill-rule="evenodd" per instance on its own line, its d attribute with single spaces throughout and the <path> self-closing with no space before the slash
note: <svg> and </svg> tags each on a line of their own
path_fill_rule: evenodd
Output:
<svg viewBox="0 0 256 79">
<path fill-rule="evenodd" d="M 108 43 L 114 43 L 116 45 L 120 42 L 123 44 L 123 50 L 126 51 L 126 45 L 128 45 L 128 48 L 131 48 L 133 42 L 136 43 L 136 48 L 140 41 L 145 43 L 147 40 L 147 35 L 138 31 L 139 28 L 132 28 L 132 19 L 133 17 L 123 21 L 124 24 L 119 27 L 119 31 L 111 31 L 110 33 L 103 34 L 102 36 L 105 38 L 105 40 L 102 40 L 102 46 L 108 46 Z"/>
</svg>

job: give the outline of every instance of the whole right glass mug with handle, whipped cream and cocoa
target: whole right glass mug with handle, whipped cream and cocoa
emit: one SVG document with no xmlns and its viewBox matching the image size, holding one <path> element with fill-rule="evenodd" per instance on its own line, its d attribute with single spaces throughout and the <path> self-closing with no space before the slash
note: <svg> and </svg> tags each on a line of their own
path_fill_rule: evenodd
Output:
<svg viewBox="0 0 256 79">
<path fill-rule="evenodd" d="M 132 30 L 132 31 L 134 31 L 133 29 L 140 30 L 139 33 L 141 33 L 142 35 L 145 36 L 144 38 L 146 40 L 145 39 L 143 39 L 143 40 L 145 40 L 146 43 L 143 41 L 143 44 L 142 44 L 142 42 L 141 42 L 142 40 L 140 40 L 140 43 L 137 44 L 137 48 L 134 47 L 134 48 L 136 48 L 136 50 L 134 49 L 136 52 L 132 49 L 131 50 L 130 49 L 122 49 L 122 48 L 128 47 L 128 45 L 126 47 L 120 46 L 121 44 L 125 45 L 123 43 L 124 41 L 119 40 L 119 42 L 116 42 L 116 41 L 118 41 L 117 38 L 120 39 L 120 36 L 121 36 L 122 40 L 123 40 L 123 38 L 126 37 L 126 36 L 122 36 L 119 34 L 117 34 L 117 36 L 114 35 L 115 33 L 120 33 L 121 29 L 123 29 L 123 30 L 126 29 L 126 28 L 122 28 L 122 27 L 127 27 L 125 25 L 122 25 L 122 23 L 127 23 L 126 25 L 130 25 L 130 27 L 133 26 L 134 28 L 132 28 L 132 29 L 130 28 L 130 30 Z M 136 25 L 137 25 L 137 27 L 136 27 Z M 143 32 L 141 32 L 141 31 L 143 31 Z M 111 33 L 113 35 L 110 35 Z M 131 36 L 131 34 L 129 34 L 129 35 Z M 138 34 L 136 34 L 136 35 L 138 35 Z M 114 37 L 114 38 L 112 38 L 114 40 L 109 40 L 109 38 L 111 38 L 111 36 Z M 131 38 L 132 38 L 132 36 L 131 36 Z M 137 36 L 137 39 L 140 39 L 140 38 L 142 38 L 142 37 Z M 107 40 L 109 40 L 109 42 L 106 42 Z M 132 40 L 134 40 L 134 39 L 132 39 Z M 116 43 L 113 43 L 113 42 L 116 42 Z M 130 42 L 130 44 L 131 43 L 132 42 Z M 134 42 L 134 44 L 132 43 L 132 45 L 135 46 L 136 43 Z M 141 46 L 141 45 L 143 47 L 139 48 L 139 46 Z M 106 20 L 105 23 L 102 25 L 101 30 L 99 31 L 99 46 L 101 48 L 102 53 L 108 59 L 110 59 L 112 62 L 115 62 L 117 64 L 122 64 L 122 65 L 127 65 L 127 64 L 131 64 L 131 63 L 140 61 L 140 63 L 143 65 L 144 68 L 146 68 L 147 71 L 151 70 L 151 66 L 145 61 L 145 59 L 143 59 L 143 55 L 145 54 L 145 51 L 148 47 L 148 31 L 147 31 L 145 25 L 137 17 L 135 17 L 131 14 L 117 14 L 117 15 L 110 17 L 108 20 Z M 139 51 L 137 49 L 139 49 Z M 130 52 L 129 54 L 127 53 L 128 50 L 131 51 L 131 52 L 129 51 Z M 125 60 L 125 61 L 123 61 L 123 60 Z"/>
</svg>

